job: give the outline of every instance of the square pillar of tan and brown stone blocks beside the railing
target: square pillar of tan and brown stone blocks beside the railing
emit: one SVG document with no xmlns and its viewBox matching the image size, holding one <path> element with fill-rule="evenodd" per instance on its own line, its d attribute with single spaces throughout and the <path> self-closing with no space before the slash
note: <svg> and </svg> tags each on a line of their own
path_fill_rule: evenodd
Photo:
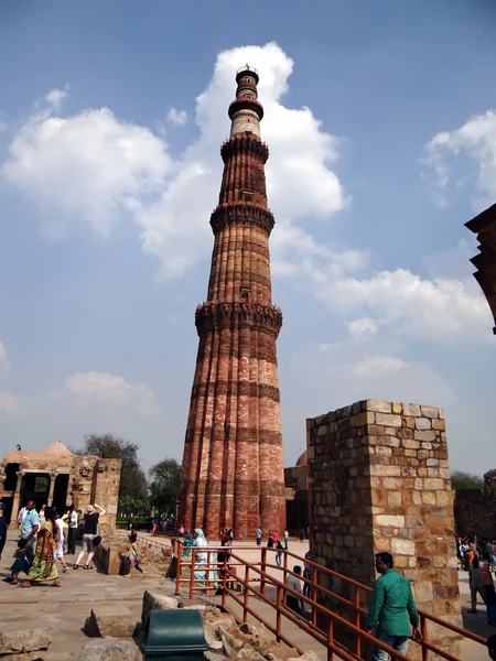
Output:
<svg viewBox="0 0 496 661">
<path fill-rule="evenodd" d="M 373 585 L 374 555 L 388 551 L 418 608 L 462 626 L 442 410 L 365 400 L 306 429 L 317 562 Z M 428 628 L 432 642 L 461 655 L 460 639 L 446 633 Z M 409 654 L 418 651 L 410 643 Z"/>
</svg>

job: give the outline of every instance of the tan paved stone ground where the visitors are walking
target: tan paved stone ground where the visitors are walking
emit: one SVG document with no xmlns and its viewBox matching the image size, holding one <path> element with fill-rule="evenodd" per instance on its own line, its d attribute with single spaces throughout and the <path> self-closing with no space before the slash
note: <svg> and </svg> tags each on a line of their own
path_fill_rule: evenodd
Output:
<svg viewBox="0 0 496 661">
<path fill-rule="evenodd" d="M 147 533 L 140 533 L 140 538 L 149 539 Z M 46 661 L 68 661 L 72 654 L 76 654 L 88 640 L 83 633 L 83 626 L 86 617 L 89 615 L 91 606 L 105 602 L 116 605 L 126 604 L 137 619 L 141 618 L 141 604 L 143 590 L 151 589 L 161 592 L 165 595 L 174 593 L 174 583 L 161 575 L 150 575 L 143 581 L 141 575 L 132 572 L 132 578 L 121 576 L 107 576 L 94 570 L 79 568 L 74 571 L 69 568 L 66 574 L 61 575 L 62 587 L 53 588 L 50 585 L 33 585 L 30 588 L 14 587 L 1 582 L 8 575 L 8 567 L 13 562 L 11 560 L 15 543 L 15 535 L 6 545 L 2 561 L 0 562 L 0 619 L 1 621 L 29 621 L 36 627 L 47 627 L 54 631 L 54 641 L 50 648 Z M 159 538 L 160 539 L 160 538 Z M 168 539 L 162 540 L 163 544 L 169 544 Z M 212 543 L 215 543 L 212 541 Z M 236 553 L 236 542 L 233 551 Z M 240 544 L 238 544 L 239 546 Z M 306 542 L 290 543 L 290 551 L 298 555 L 304 555 L 308 550 Z M 254 562 L 259 557 L 259 549 L 239 551 L 239 555 Z M 74 562 L 73 556 L 66 557 L 69 565 Z M 280 572 L 273 570 L 274 576 L 280 576 Z M 461 572 L 460 589 L 462 593 L 464 626 L 478 633 L 488 637 L 495 633 L 493 627 L 486 625 L 485 607 L 481 604 L 478 615 L 467 614 L 470 608 L 468 579 L 465 572 Z M 266 610 L 267 609 L 267 614 Z M 257 610 L 268 620 L 273 621 L 273 610 L 270 606 L 260 604 L 257 600 Z M 261 613 L 263 610 L 263 613 Z M 270 617 L 272 615 L 272 617 Z M 325 653 L 322 646 L 313 639 L 301 632 L 298 627 L 287 620 L 284 632 L 303 649 L 312 649 L 325 661 Z M 481 661 L 486 658 L 486 652 L 482 646 L 468 642 L 465 648 L 464 661 Z"/>
</svg>

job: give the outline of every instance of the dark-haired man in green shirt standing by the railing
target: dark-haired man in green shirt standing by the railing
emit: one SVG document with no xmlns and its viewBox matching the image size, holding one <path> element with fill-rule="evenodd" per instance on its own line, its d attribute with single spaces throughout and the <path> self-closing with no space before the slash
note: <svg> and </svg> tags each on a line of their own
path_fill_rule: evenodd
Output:
<svg viewBox="0 0 496 661">
<path fill-rule="evenodd" d="M 393 568 L 390 553 L 376 553 L 376 570 L 380 574 L 374 584 L 373 598 L 367 615 L 367 630 L 375 637 L 397 650 L 407 653 L 410 638 L 410 624 L 413 627 L 412 638 L 420 639 L 419 615 L 411 592 L 410 583 Z M 385 650 L 374 647 L 374 661 L 388 661 Z"/>
</svg>

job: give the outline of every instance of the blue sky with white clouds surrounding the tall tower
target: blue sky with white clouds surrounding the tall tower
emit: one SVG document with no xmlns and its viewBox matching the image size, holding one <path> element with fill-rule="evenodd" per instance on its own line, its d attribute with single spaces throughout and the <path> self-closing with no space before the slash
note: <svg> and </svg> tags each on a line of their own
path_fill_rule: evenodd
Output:
<svg viewBox="0 0 496 661">
<path fill-rule="evenodd" d="M 305 418 L 377 398 L 444 407 L 452 468 L 494 467 L 495 338 L 464 223 L 496 199 L 495 22 L 483 0 L 3 2 L 0 452 L 114 431 L 147 466 L 181 459 L 248 61 L 287 465 Z"/>
</svg>

